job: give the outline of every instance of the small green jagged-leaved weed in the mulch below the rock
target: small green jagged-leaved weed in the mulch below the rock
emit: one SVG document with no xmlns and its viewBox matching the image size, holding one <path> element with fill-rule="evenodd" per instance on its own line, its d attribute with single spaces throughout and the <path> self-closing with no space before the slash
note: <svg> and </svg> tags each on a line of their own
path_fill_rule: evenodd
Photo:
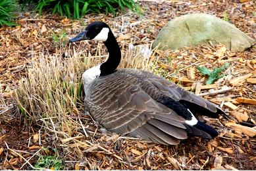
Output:
<svg viewBox="0 0 256 171">
<path fill-rule="evenodd" d="M 220 79 L 222 77 L 225 76 L 225 74 L 221 74 L 220 73 L 226 69 L 226 67 L 229 66 L 229 63 L 224 64 L 224 66 L 222 67 L 216 67 L 215 69 L 213 69 L 213 71 L 210 71 L 209 69 L 207 69 L 207 67 L 202 66 L 199 67 L 197 66 L 198 71 L 203 74 L 203 75 L 207 75 L 208 79 L 206 81 L 207 85 L 210 85 L 211 83 L 213 83 L 213 81 Z"/>
</svg>

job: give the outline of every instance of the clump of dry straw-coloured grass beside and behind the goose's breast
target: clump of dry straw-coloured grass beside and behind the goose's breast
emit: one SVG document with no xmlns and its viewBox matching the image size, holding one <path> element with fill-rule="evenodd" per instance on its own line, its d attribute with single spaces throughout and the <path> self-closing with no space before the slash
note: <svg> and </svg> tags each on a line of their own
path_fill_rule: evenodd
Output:
<svg viewBox="0 0 256 171">
<path fill-rule="evenodd" d="M 143 57 L 141 48 L 122 48 L 123 58 L 119 67 L 152 69 L 151 64 L 157 62 L 155 50 L 151 50 L 150 57 Z M 67 51 L 72 58 L 63 58 L 61 53 L 55 56 L 41 53 L 39 61 L 27 69 L 27 77 L 20 80 L 14 94 L 18 115 L 27 125 L 41 126 L 41 134 L 51 137 L 52 143 L 64 152 L 62 158 L 65 160 L 83 159 L 83 150 L 95 150 L 96 146 L 111 154 L 96 143 L 97 126 L 88 115 L 83 115 L 81 83 L 82 73 L 105 60 L 107 50 L 99 43 L 93 55 L 81 47 Z"/>
</svg>

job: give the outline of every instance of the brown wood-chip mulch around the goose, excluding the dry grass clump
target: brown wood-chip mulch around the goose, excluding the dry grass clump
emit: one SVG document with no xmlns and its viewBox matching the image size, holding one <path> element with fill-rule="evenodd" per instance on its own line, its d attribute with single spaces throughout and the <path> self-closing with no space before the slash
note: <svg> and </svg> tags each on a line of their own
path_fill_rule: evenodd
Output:
<svg viewBox="0 0 256 171">
<path fill-rule="evenodd" d="M 58 140 L 41 123 L 29 122 L 18 113 L 13 94 L 18 88 L 18 82 L 27 77 L 27 68 L 39 61 L 39 53 L 62 55 L 63 48 L 72 51 L 76 46 L 65 47 L 65 37 L 76 35 L 93 20 L 108 22 L 123 48 L 131 44 L 149 46 L 168 20 L 196 12 L 226 18 L 228 22 L 256 39 L 253 1 L 140 1 L 140 6 L 143 9 L 142 15 L 126 12 L 113 18 L 111 15 L 90 14 L 82 20 L 74 21 L 49 14 L 38 16 L 32 12 L 23 12 L 17 19 L 20 26 L 0 28 L 1 169 L 32 169 L 31 166 L 35 166 L 39 156 L 55 155 L 53 149 L 57 149 L 59 159 L 64 161 L 65 169 L 68 170 L 256 169 L 256 140 L 250 133 L 255 135 L 255 127 L 254 130 L 249 128 L 255 126 L 256 107 L 237 101 L 238 98 L 256 99 L 256 87 L 247 81 L 249 77 L 256 77 L 255 45 L 245 52 L 229 52 L 222 45 L 211 43 L 168 52 L 156 51 L 159 61 L 153 69 L 155 73 L 187 90 L 195 86 L 195 92 L 205 93 L 201 95 L 218 105 L 230 102 L 237 106 L 223 106 L 224 111 L 230 115 L 230 121 L 223 118 L 205 118 L 208 124 L 220 132 L 220 136 L 214 140 L 191 138 L 175 146 L 155 145 L 135 138 L 105 133 L 90 117 L 82 114 L 70 117 L 76 118 L 77 123 L 81 121 L 84 127 L 74 128 L 70 136 L 72 139 Z M 84 43 L 80 48 L 88 48 L 93 54 L 97 45 Z M 232 89 L 209 94 L 211 90 L 202 87 L 205 77 L 195 66 L 214 69 L 227 62 L 230 66 L 225 71 L 226 77 L 212 86 L 215 90 L 220 90 L 222 86 Z M 190 73 L 194 73 L 194 77 Z M 247 78 L 235 80 L 234 83 L 234 78 L 241 78 L 243 75 Z M 82 107 L 80 108 L 79 112 L 84 113 Z M 234 123 L 246 127 L 240 128 L 236 124 L 232 125 Z M 88 131 L 88 137 L 84 136 L 84 128 Z"/>
</svg>

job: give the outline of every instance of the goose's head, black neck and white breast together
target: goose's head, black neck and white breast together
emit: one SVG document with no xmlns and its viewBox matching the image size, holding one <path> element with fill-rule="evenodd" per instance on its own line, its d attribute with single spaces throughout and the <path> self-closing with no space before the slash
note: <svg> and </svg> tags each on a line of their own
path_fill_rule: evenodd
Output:
<svg viewBox="0 0 256 171">
<path fill-rule="evenodd" d="M 76 41 L 103 41 L 109 52 L 109 58 L 99 66 L 91 67 L 86 70 L 82 76 L 84 87 L 86 87 L 93 79 L 105 75 L 109 75 L 116 71 L 121 58 L 121 51 L 111 29 L 105 22 L 93 22 L 89 24 L 84 31 L 69 40 L 69 43 Z"/>
</svg>

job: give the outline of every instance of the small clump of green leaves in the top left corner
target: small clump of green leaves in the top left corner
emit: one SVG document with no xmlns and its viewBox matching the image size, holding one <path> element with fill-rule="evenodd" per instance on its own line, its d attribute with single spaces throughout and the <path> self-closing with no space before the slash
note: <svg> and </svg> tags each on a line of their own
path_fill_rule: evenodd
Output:
<svg viewBox="0 0 256 171">
<path fill-rule="evenodd" d="M 14 12 L 18 5 L 13 0 L 0 0 L 0 26 L 16 26 L 11 20 L 15 17 Z"/>
</svg>

